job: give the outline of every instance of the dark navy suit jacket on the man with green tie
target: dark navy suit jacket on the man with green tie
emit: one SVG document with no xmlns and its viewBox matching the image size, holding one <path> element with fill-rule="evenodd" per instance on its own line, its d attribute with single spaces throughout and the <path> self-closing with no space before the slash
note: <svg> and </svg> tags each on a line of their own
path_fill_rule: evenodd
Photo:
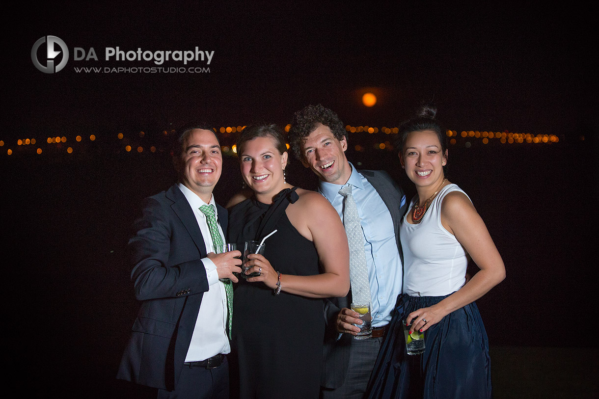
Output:
<svg viewBox="0 0 599 399">
<path fill-rule="evenodd" d="M 217 205 L 217 214 L 226 231 L 227 211 Z M 177 185 L 146 198 L 134 227 L 128 258 L 141 307 L 117 378 L 172 390 L 208 291 L 204 237 Z"/>
</svg>

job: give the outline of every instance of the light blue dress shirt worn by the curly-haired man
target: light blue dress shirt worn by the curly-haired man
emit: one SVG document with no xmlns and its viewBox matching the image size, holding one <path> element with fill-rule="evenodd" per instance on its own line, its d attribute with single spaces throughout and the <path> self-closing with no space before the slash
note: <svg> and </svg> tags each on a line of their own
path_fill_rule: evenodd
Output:
<svg viewBox="0 0 599 399">
<path fill-rule="evenodd" d="M 345 185 L 320 180 L 319 191 L 331 202 L 343 220 L 343 196 L 338 192 L 343 186 L 353 186 L 352 195 L 358 207 L 364 234 L 373 327 L 380 327 L 391 321 L 395 301 L 401 294 L 403 268 L 389 209 L 368 180 L 351 163 L 350 166 L 352 174 Z"/>
</svg>

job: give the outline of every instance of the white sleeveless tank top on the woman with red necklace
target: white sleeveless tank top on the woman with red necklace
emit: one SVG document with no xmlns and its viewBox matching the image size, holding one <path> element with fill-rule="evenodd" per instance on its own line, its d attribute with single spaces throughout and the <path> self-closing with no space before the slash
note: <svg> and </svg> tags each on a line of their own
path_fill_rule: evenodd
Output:
<svg viewBox="0 0 599 399">
<path fill-rule="evenodd" d="M 441 203 L 452 191 L 466 195 L 457 185 L 447 185 L 432 200 L 420 223 L 408 223 L 407 214 L 401 222 L 403 292 L 411 297 L 448 295 L 462 288 L 466 282 L 467 252 L 455 236 L 441 225 Z M 408 209 L 411 210 L 417 200 L 418 195 L 412 199 Z"/>
</svg>

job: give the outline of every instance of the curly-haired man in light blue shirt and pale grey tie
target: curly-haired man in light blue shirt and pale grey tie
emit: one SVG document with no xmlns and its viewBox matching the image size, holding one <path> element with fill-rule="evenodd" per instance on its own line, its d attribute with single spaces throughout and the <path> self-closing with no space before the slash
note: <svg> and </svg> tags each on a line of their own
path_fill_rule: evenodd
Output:
<svg viewBox="0 0 599 399">
<path fill-rule="evenodd" d="M 362 321 L 358 313 L 350 309 L 352 292 L 357 296 L 358 285 L 352 274 L 349 294 L 325 301 L 327 330 L 321 392 L 325 399 L 362 398 L 395 301 L 401 294 L 403 266 L 399 227 L 406 211 L 406 196 L 384 171 L 356 170 L 347 161 L 343 123 L 337 114 L 322 105 L 308 105 L 295 113 L 289 141 L 299 161 L 319 177 L 318 191 L 331 202 L 344 224 L 349 198 L 346 198 L 347 186 L 358 210 L 358 250 L 364 244 L 365 259 L 361 253 L 354 255 L 349 238 L 350 267 L 359 262 L 352 258 L 361 258 L 366 264 L 368 282 L 363 291 L 370 297 L 373 334 L 372 338 L 353 339 L 360 331 L 355 324 Z M 342 188 L 344 194 L 340 192 Z"/>
</svg>

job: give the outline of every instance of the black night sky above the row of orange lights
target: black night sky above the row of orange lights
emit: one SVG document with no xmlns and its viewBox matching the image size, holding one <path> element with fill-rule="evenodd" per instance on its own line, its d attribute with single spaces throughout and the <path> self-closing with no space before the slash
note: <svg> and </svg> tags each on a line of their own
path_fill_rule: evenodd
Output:
<svg viewBox="0 0 599 399">
<path fill-rule="evenodd" d="M 418 102 L 429 100 L 455 129 L 575 134 L 581 126 L 592 127 L 597 87 L 592 10 L 482 3 L 380 8 L 298 2 L 283 8 L 257 2 L 264 7 L 152 10 L 135 2 L 35 5 L 4 24 L 11 39 L 4 134 L 19 137 L 16 132 L 25 126 L 34 132 L 108 128 L 177 123 L 190 116 L 224 125 L 254 119 L 287 123 L 313 102 L 328 105 L 352 125 L 395 126 Z M 32 68 L 29 52 L 44 35 L 62 38 L 71 50 L 62 74 Z M 116 46 L 150 51 L 198 46 L 214 56 L 210 73 L 201 75 L 73 71 L 155 66 L 104 61 L 104 48 Z M 73 47 L 93 47 L 99 61 L 72 61 Z M 380 93 L 374 108 L 359 104 L 356 90 L 365 87 Z"/>
</svg>

